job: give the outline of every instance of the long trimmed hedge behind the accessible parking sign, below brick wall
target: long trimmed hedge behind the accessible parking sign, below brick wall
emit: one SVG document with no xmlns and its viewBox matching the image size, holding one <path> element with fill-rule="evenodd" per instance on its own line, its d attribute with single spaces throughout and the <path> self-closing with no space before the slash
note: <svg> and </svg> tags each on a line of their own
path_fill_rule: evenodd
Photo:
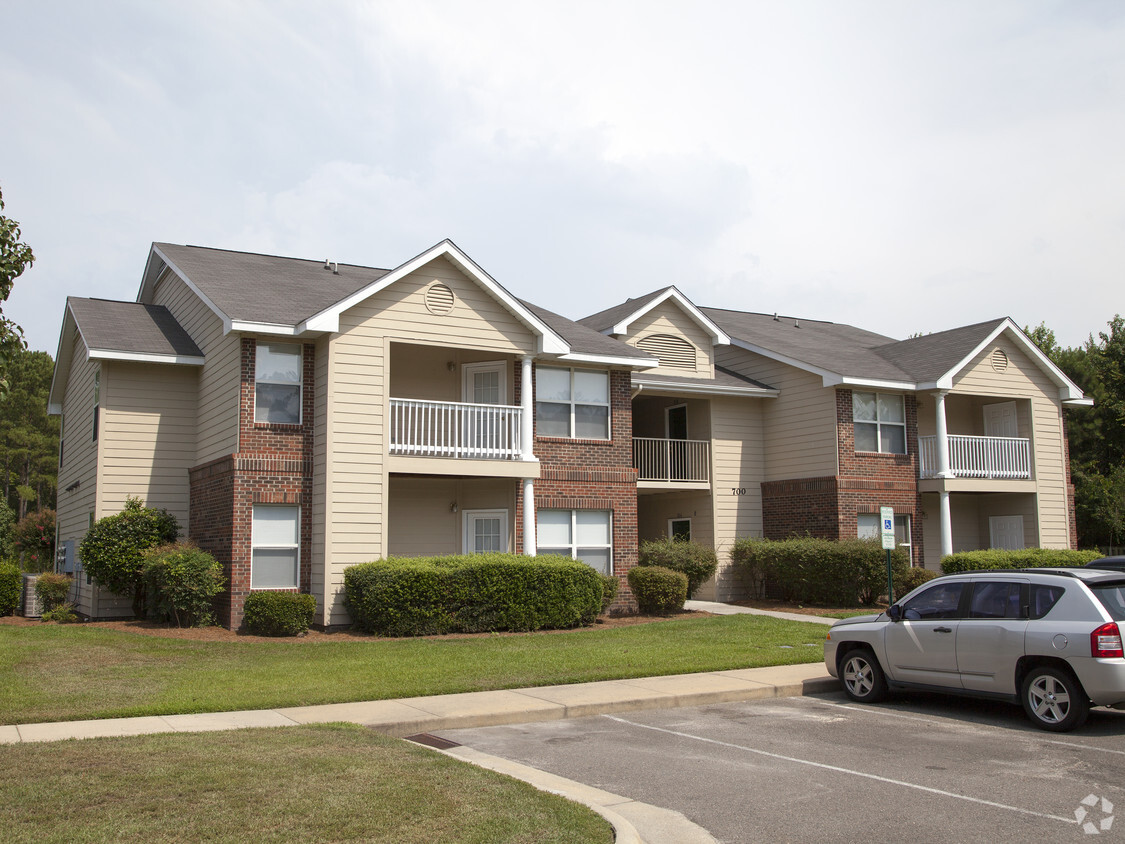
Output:
<svg viewBox="0 0 1125 844">
<path fill-rule="evenodd" d="M 768 587 L 794 603 L 854 607 L 886 593 L 886 551 L 878 539 L 742 538 L 730 558 L 758 594 Z M 907 553 L 896 548 L 892 574 L 902 577 L 909 567 Z"/>
</svg>

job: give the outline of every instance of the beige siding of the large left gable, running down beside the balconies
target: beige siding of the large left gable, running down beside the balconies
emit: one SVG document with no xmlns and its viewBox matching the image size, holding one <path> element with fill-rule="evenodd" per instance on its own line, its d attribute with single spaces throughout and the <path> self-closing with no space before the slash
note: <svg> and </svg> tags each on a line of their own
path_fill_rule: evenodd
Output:
<svg viewBox="0 0 1125 844">
<path fill-rule="evenodd" d="M 426 288 L 453 290 L 453 309 L 438 316 L 425 306 Z M 396 281 L 341 315 L 331 340 L 331 420 L 324 456 L 331 524 L 325 540 L 326 595 L 332 623 L 346 621 L 343 571 L 387 553 L 387 470 L 384 442 L 388 411 L 387 363 L 392 342 L 505 354 L 533 353 L 536 338 L 487 291 L 446 259 Z"/>
</svg>

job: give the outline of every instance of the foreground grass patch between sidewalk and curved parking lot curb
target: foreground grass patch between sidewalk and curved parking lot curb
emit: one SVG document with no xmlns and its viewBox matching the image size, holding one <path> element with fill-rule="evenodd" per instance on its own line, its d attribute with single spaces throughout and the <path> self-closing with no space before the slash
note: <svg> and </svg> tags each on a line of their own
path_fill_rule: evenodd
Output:
<svg viewBox="0 0 1125 844">
<path fill-rule="evenodd" d="M 8 842 L 611 844 L 584 806 L 362 727 L 12 745 Z"/>
</svg>

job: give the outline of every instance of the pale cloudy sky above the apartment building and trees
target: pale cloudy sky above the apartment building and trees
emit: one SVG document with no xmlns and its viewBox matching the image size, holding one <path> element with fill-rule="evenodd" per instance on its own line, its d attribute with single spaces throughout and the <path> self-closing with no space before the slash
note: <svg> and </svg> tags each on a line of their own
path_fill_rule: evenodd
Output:
<svg viewBox="0 0 1125 844">
<path fill-rule="evenodd" d="M 153 241 L 393 268 L 451 239 L 578 318 L 907 338 L 1125 312 L 1117 0 L 0 0 L 7 316 L 134 300 Z"/>
</svg>

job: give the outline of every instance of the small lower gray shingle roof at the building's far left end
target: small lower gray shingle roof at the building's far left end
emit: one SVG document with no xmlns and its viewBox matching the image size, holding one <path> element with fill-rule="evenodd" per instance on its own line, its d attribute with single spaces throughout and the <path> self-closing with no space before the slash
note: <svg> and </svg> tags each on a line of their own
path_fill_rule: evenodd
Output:
<svg viewBox="0 0 1125 844">
<path fill-rule="evenodd" d="M 189 358 L 204 356 L 163 305 L 75 296 L 69 297 L 66 304 L 88 349 Z"/>
</svg>

